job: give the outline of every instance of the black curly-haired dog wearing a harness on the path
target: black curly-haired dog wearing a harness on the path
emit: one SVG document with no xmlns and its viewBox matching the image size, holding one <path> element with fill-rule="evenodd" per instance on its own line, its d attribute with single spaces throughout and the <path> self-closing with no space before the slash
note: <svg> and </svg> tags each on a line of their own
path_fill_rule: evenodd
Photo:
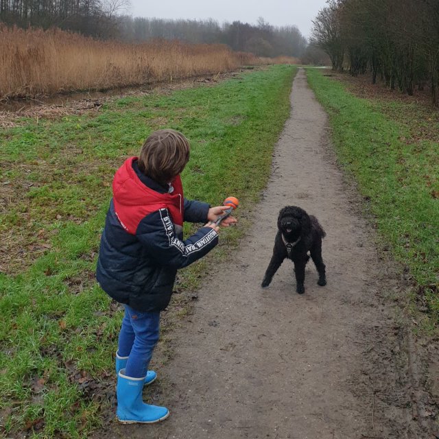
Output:
<svg viewBox="0 0 439 439">
<path fill-rule="evenodd" d="M 322 259 L 322 239 L 327 235 L 317 218 L 308 215 L 297 206 L 285 206 L 277 219 L 278 233 L 274 240 L 273 256 L 262 281 L 268 287 L 274 273 L 285 258 L 294 262 L 296 272 L 296 292 L 305 293 L 305 265 L 309 261 L 308 252 L 318 271 L 318 285 L 326 285 L 325 265 Z"/>
</svg>

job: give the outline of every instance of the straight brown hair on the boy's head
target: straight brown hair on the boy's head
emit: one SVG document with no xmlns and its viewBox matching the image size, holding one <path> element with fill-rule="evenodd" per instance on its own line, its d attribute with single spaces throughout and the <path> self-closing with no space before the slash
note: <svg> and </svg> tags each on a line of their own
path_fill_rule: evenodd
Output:
<svg viewBox="0 0 439 439">
<path fill-rule="evenodd" d="M 139 169 L 152 180 L 165 185 L 178 176 L 189 161 L 189 141 L 176 130 L 150 134 L 139 154 Z"/>
</svg>

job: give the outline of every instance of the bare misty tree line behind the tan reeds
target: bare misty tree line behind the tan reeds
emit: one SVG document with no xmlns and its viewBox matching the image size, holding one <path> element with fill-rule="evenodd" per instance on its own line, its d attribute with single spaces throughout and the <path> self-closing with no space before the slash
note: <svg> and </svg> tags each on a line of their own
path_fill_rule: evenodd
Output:
<svg viewBox="0 0 439 439">
<path fill-rule="evenodd" d="M 0 0 L 0 21 L 19 27 L 58 27 L 85 36 L 141 42 L 154 38 L 226 44 L 256 56 L 300 57 L 307 39 L 294 26 L 234 21 L 166 20 L 121 16 L 129 0 Z"/>
</svg>

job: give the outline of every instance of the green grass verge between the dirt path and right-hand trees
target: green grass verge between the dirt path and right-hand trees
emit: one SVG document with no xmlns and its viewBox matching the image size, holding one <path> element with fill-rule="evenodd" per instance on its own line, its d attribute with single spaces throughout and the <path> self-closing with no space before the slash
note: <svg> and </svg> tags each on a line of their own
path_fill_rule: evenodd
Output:
<svg viewBox="0 0 439 439">
<path fill-rule="evenodd" d="M 388 99 L 359 99 L 307 70 L 328 111 L 340 163 L 358 182 L 377 229 L 414 283 L 423 327 L 439 331 L 439 112 Z"/>
</svg>

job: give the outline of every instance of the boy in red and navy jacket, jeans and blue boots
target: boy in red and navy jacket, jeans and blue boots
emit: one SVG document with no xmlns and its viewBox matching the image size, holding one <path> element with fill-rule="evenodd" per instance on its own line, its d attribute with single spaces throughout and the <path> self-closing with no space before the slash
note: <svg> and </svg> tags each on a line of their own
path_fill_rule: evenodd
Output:
<svg viewBox="0 0 439 439">
<path fill-rule="evenodd" d="M 178 268 L 217 245 L 215 219 L 228 209 L 184 198 L 180 173 L 188 161 L 187 139 L 175 130 L 159 130 L 146 139 L 139 158 L 123 163 L 112 183 L 96 277 L 125 307 L 116 354 L 121 423 L 156 423 L 169 416 L 166 407 L 142 399 L 143 385 L 156 379 L 147 366 L 158 341 L 160 312 L 171 299 Z M 207 224 L 182 241 L 183 221 Z M 235 222 L 228 217 L 222 225 Z"/>
</svg>

